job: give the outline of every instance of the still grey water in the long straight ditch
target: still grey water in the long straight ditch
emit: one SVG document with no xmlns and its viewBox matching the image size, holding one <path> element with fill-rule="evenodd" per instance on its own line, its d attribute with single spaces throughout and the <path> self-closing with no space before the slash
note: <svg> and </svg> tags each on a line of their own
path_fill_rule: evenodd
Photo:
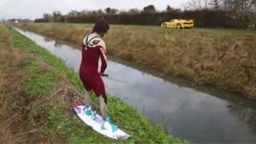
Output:
<svg viewBox="0 0 256 144">
<path fill-rule="evenodd" d="M 17 31 L 79 70 L 79 49 L 32 32 Z M 157 78 L 111 60 L 106 73 L 117 79 L 104 78 L 108 94 L 119 95 L 151 123 L 163 124 L 172 135 L 195 143 L 256 143 L 253 101 L 219 89 L 197 89 L 193 84 L 179 83 L 177 78 Z"/>
</svg>

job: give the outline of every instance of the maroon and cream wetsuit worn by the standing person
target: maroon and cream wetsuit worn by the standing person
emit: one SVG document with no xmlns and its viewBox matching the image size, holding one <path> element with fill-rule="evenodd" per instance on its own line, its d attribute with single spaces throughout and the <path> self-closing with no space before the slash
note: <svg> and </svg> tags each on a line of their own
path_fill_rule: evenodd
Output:
<svg viewBox="0 0 256 144">
<path fill-rule="evenodd" d="M 107 68 L 106 46 L 101 37 L 91 33 L 84 37 L 79 77 L 87 91 L 93 90 L 97 96 L 102 95 L 107 103 L 105 86 L 98 72 L 99 58 L 102 60 L 100 72 L 103 73 Z"/>
</svg>

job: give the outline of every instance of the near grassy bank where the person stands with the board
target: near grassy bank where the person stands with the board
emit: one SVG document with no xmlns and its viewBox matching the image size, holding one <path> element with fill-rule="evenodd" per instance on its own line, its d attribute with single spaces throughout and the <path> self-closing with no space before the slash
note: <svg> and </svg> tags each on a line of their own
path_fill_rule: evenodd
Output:
<svg viewBox="0 0 256 144">
<path fill-rule="evenodd" d="M 114 123 L 131 134 L 113 141 L 73 114 L 82 84 L 64 62 L 0 24 L 0 141 L 3 143 L 183 143 L 124 104 L 109 98 Z"/>
</svg>

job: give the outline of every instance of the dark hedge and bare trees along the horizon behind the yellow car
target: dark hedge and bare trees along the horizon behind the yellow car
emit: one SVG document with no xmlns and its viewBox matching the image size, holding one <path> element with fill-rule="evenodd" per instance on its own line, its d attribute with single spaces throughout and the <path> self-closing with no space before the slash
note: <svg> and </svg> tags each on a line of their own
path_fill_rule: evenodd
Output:
<svg viewBox="0 0 256 144">
<path fill-rule="evenodd" d="M 120 11 L 106 8 L 98 10 L 72 10 L 68 14 L 55 11 L 44 14 L 35 22 L 73 22 L 93 23 L 103 17 L 111 24 L 121 25 L 160 25 L 172 19 L 194 19 L 198 27 L 224 27 L 255 29 L 256 0 L 191 0 L 183 4 L 183 9 L 175 9 L 170 5 L 166 10 L 158 11 L 154 5 L 143 9 Z"/>
</svg>

